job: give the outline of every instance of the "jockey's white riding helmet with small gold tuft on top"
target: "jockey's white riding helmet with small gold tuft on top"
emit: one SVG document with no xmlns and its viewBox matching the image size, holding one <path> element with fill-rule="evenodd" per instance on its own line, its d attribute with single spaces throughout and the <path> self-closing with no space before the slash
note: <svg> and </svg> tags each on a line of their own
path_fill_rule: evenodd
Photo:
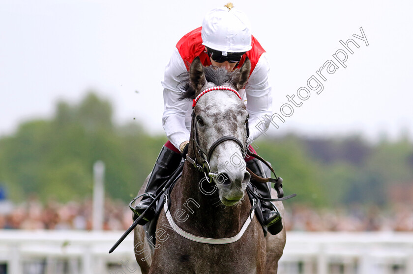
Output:
<svg viewBox="0 0 413 274">
<path fill-rule="evenodd" d="M 245 52 L 251 50 L 251 23 L 232 3 L 207 13 L 202 22 L 202 45 L 213 50 Z"/>
</svg>

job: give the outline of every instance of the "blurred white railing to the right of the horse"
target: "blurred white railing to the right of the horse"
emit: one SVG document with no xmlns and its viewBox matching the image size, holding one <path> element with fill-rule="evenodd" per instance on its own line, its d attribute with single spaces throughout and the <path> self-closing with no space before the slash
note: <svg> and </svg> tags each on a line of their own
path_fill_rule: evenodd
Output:
<svg viewBox="0 0 413 274">
<path fill-rule="evenodd" d="M 413 233 L 289 232 L 280 272 L 413 274 Z"/>
</svg>

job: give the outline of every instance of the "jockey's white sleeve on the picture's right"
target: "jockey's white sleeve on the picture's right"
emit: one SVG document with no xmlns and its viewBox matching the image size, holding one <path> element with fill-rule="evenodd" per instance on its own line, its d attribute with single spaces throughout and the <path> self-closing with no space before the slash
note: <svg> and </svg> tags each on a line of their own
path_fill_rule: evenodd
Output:
<svg viewBox="0 0 413 274">
<path fill-rule="evenodd" d="M 248 79 L 245 87 L 247 97 L 247 111 L 250 115 L 248 127 L 250 130 L 249 143 L 268 129 L 269 120 L 265 115 L 271 117 L 272 95 L 271 86 L 268 83 L 269 62 L 266 53 L 258 60 L 254 71 Z"/>
</svg>

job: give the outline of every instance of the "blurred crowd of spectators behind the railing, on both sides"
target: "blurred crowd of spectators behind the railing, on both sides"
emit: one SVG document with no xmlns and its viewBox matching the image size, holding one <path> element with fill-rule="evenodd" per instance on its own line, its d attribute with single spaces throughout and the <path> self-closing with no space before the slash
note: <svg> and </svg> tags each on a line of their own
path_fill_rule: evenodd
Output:
<svg viewBox="0 0 413 274">
<path fill-rule="evenodd" d="M 391 209 L 350 205 L 336 209 L 287 204 L 287 230 L 293 231 L 413 231 L 413 207 L 394 205 Z M 127 204 L 105 199 L 104 230 L 126 230 L 132 224 Z M 35 197 L 0 211 L 0 229 L 92 229 L 92 201 L 57 200 L 40 202 Z"/>
</svg>

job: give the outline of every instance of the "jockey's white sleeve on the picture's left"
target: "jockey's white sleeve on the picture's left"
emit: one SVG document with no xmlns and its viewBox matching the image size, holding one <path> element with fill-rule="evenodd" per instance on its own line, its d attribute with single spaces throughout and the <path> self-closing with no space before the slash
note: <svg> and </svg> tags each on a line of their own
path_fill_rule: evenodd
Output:
<svg viewBox="0 0 413 274">
<path fill-rule="evenodd" d="M 185 125 L 185 115 L 192 106 L 189 100 L 178 100 L 181 91 L 177 84 L 177 76 L 186 72 L 185 64 L 177 48 L 175 48 L 168 65 L 165 68 L 165 76 L 162 81 L 164 87 L 164 113 L 162 126 L 169 141 L 179 149 L 179 145 L 189 140 L 189 130 Z"/>
</svg>

